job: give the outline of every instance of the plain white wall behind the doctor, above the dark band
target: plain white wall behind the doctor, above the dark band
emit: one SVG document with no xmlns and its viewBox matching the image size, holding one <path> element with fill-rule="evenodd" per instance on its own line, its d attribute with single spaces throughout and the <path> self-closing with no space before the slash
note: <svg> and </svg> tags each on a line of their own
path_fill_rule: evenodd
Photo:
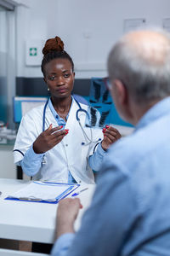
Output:
<svg viewBox="0 0 170 256">
<path fill-rule="evenodd" d="M 40 67 L 26 67 L 27 39 L 59 35 L 73 57 L 76 78 L 103 77 L 111 46 L 123 34 L 124 19 L 145 18 L 162 26 L 170 17 L 169 0 L 17 0 L 17 76 L 42 77 Z"/>
</svg>

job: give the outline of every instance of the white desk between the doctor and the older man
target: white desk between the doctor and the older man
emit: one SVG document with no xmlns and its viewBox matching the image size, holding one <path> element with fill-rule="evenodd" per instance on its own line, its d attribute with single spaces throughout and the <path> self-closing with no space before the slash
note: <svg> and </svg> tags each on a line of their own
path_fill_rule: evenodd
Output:
<svg viewBox="0 0 170 256">
<path fill-rule="evenodd" d="M 0 196 L 0 238 L 53 243 L 58 204 L 3 200 L 28 183 L 24 180 L 0 179 L 0 191 L 3 192 Z M 75 230 L 80 227 L 82 214 L 94 194 L 95 185 L 81 185 L 78 189 L 86 187 L 88 189 L 78 195 L 83 208 L 78 214 Z"/>
</svg>

